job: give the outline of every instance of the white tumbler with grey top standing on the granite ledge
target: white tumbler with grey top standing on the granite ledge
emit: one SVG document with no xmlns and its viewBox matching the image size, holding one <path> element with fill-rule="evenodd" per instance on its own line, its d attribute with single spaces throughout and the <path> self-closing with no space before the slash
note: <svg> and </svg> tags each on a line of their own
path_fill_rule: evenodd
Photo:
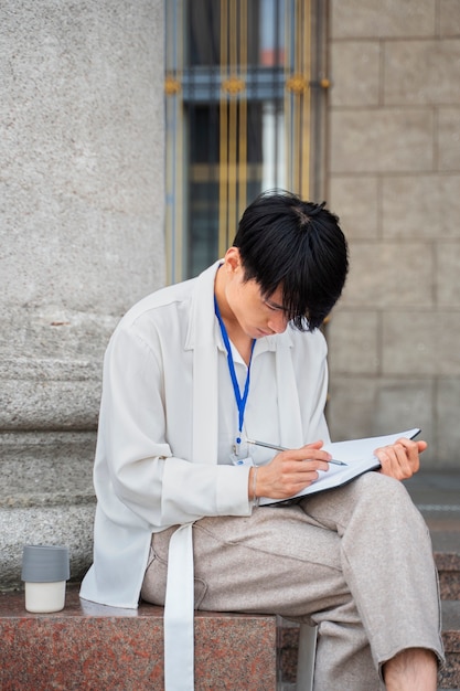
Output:
<svg viewBox="0 0 460 691">
<path fill-rule="evenodd" d="M 71 577 L 68 548 L 26 544 L 22 552 L 25 609 L 51 613 L 64 609 L 65 582 Z"/>
</svg>

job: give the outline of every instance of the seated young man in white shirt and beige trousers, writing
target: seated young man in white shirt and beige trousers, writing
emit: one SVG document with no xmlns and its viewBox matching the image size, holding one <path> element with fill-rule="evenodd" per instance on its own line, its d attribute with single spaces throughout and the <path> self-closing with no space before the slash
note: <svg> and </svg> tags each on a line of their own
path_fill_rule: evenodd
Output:
<svg viewBox="0 0 460 691">
<path fill-rule="evenodd" d="M 436 690 L 436 570 L 398 481 L 418 470 L 426 444 L 376 449 L 379 472 L 296 506 L 257 506 L 328 470 L 319 327 L 346 273 L 336 216 L 264 194 L 221 262 L 141 300 L 113 336 L 94 565 L 81 595 L 165 603 L 168 689 L 193 689 L 194 605 L 317 624 L 315 691 L 373 691 L 383 679 L 391 690 Z"/>
</svg>

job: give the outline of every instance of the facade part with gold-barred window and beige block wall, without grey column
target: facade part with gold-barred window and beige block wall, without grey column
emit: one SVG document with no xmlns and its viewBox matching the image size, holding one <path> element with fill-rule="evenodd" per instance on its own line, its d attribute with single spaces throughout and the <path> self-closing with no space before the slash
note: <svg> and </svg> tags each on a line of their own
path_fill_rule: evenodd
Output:
<svg viewBox="0 0 460 691">
<path fill-rule="evenodd" d="M 327 327 L 334 438 L 420 426 L 458 465 L 460 3 L 167 3 L 168 280 L 232 242 L 246 202 L 328 200 L 351 274 Z"/>
</svg>

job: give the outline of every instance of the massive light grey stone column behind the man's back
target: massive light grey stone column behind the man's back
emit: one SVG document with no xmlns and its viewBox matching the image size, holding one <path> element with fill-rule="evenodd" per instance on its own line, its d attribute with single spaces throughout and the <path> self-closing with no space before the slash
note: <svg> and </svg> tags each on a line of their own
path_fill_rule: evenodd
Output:
<svg viewBox="0 0 460 691">
<path fill-rule="evenodd" d="M 164 281 L 163 1 L 0 6 L 0 587 L 90 562 L 101 361 Z"/>
</svg>

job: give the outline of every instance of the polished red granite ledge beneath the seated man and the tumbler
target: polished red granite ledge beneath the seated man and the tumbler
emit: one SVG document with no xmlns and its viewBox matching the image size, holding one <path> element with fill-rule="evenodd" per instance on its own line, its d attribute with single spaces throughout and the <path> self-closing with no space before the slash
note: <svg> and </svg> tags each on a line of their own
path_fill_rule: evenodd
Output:
<svg viewBox="0 0 460 691">
<path fill-rule="evenodd" d="M 0 595 L 1 691 L 162 691 L 163 610 L 82 604 L 68 588 L 61 613 L 24 609 Z M 276 691 L 275 616 L 197 613 L 195 689 Z"/>
</svg>

